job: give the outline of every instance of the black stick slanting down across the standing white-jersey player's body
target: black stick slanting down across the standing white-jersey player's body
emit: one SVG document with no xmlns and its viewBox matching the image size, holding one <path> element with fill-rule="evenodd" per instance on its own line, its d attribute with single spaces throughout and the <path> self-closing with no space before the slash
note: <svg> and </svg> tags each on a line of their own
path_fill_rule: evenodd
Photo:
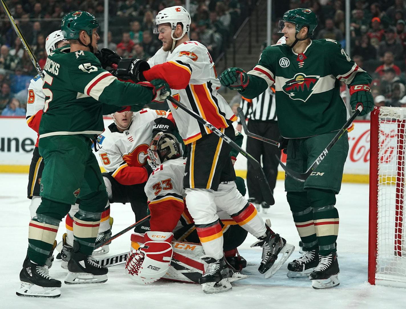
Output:
<svg viewBox="0 0 406 309">
<path fill-rule="evenodd" d="M 251 156 L 248 152 L 244 151 L 240 146 L 238 146 L 236 143 L 234 143 L 230 138 L 228 138 L 225 134 L 223 134 L 220 130 L 218 130 L 214 125 L 200 117 L 197 113 L 195 113 L 193 110 L 190 110 L 188 107 L 184 106 L 181 102 L 179 102 L 177 99 L 174 99 L 173 97 L 169 96 L 167 99 L 187 112 L 190 116 L 192 116 L 194 119 L 199 121 L 201 124 L 203 124 L 205 127 L 208 127 L 214 134 L 216 134 L 218 137 L 222 138 L 227 144 L 229 144 L 231 147 L 234 149 L 238 150 L 244 157 L 247 158 L 248 161 L 251 162 L 251 164 L 254 167 L 254 170 L 256 171 L 256 177 L 259 179 L 259 185 L 261 186 L 261 193 L 263 195 L 263 199 L 268 205 L 274 205 L 275 200 L 274 197 L 271 193 L 271 189 L 269 187 L 268 181 L 266 180 L 265 173 L 263 172 L 263 169 L 261 167 L 261 164 L 253 156 Z"/>
</svg>

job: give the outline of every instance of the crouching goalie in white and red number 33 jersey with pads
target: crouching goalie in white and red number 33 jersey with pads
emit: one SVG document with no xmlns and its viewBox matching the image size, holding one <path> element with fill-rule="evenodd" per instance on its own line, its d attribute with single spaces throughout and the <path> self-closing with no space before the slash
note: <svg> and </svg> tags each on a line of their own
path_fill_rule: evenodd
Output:
<svg viewBox="0 0 406 309">
<path fill-rule="evenodd" d="M 151 141 L 148 153 L 157 166 L 145 185 L 151 212 L 151 231 L 145 235 L 132 234 L 132 251 L 126 263 L 127 274 L 139 283 L 151 283 L 163 276 L 166 279 L 197 283 L 203 273 L 203 250 L 196 244 L 200 241 L 197 235 L 193 235 L 196 233 L 193 219 L 184 204 L 186 158 L 182 157 L 181 144 L 172 134 L 159 133 Z M 235 248 L 244 242 L 247 232 L 236 225 L 226 212 L 218 209 L 218 216 L 226 235 L 224 249 L 234 253 Z M 175 242 L 171 244 L 172 240 Z M 185 249 L 192 246 L 193 250 Z M 169 269 L 173 254 L 175 264 L 181 266 Z M 238 268 L 227 268 L 233 281 L 246 278 L 238 274 L 238 270 L 244 267 L 244 259 L 240 259 L 241 263 L 235 263 L 235 259 L 230 256 L 228 261 L 232 261 L 233 266 Z"/>
</svg>

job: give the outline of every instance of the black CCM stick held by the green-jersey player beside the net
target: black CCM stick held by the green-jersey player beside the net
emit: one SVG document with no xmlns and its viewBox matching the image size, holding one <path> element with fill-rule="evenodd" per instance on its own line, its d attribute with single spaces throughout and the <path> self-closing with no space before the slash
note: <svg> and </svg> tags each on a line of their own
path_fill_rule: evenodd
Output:
<svg viewBox="0 0 406 309">
<path fill-rule="evenodd" d="M 309 177 L 311 173 L 313 173 L 316 167 L 320 165 L 323 159 L 326 158 L 328 151 L 330 151 L 330 149 L 335 145 L 335 143 L 337 143 L 337 141 L 341 138 L 341 136 L 343 136 L 343 134 L 347 131 L 352 121 L 354 121 L 355 117 L 357 117 L 361 111 L 362 106 L 358 106 L 354 114 L 352 114 L 352 116 L 347 120 L 347 122 L 343 125 L 343 127 L 337 132 L 336 136 L 334 136 L 331 142 L 322 151 L 322 153 L 320 153 L 320 156 L 317 157 L 317 159 L 313 162 L 313 164 L 309 167 L 309 169 L 306 172 L 298 173 L 292 171 L 291 169 L 288 169 L 286 165 L 282 163 L 281 159 L 278 156 L 276 156 L 282 168 L 285 170 L 286 174 L 292 177 L 293 179 L 296 179 L 298 182 L 304 182 L 307 179 L 307 177 Z"/>
</svg>

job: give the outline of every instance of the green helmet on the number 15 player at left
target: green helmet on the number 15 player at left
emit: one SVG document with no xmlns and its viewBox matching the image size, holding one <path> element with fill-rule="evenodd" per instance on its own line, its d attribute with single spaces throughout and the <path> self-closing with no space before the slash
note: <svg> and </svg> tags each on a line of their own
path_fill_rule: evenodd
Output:
<svg viewBox="0 0 406 309">
<path fill-rule="evenodd" d="M 73 11 L 66 14 L 60 26 L 62 34 L 67 40 L 79 39 L 81 30 L 86 31 L 92 37 L 92 30 L 99 27 L 96 17 L 85 11 Z"/>
</svg>

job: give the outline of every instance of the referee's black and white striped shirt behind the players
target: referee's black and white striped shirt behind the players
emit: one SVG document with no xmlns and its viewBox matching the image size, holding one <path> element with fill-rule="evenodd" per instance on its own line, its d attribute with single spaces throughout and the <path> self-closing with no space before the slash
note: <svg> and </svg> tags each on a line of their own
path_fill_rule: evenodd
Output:
<svg viewBox="0 0 406 309">
<path fill-rule="evenodd" d="M 241 98 L 240 108 L 246 118 L 261 121 L 277 121 L 275 106 L 275 89 L 268 87 L 254 99 Z"/>
</svg>

